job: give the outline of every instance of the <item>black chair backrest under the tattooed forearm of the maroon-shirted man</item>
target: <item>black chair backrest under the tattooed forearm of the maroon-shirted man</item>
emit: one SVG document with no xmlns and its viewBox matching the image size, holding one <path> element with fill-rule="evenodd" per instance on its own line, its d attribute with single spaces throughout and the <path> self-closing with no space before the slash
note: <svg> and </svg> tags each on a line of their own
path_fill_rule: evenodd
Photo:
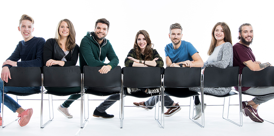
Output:
<svg viewBox="0 0 274 136">
<path fill-rule="evenodd" d="M 244 67 L 241 74 L 241 86 L 274 86 L 274 67 L 266 67 L 260 71 L 251 71 L 248 67 Z"/>
</svg>

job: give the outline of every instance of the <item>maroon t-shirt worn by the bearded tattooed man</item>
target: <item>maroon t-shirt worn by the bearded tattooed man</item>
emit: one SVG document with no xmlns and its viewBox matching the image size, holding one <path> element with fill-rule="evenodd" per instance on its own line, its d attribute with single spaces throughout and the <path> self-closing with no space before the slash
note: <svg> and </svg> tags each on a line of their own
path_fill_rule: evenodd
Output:
<svg viewBox="0 0 274 136">
<path fill-rule="evenodd" d="M 239 74 L 242 74 L 242 70 L 244 67 L 246 67 L 246 65 L 244 65 L 244 61 L 249 61 L 251 60 L 252 62 L 254 62 L 255 56 L 252 53 L 251 48 L 241 44 L 241 43 L 236 43 L 233 46 L 233 66 L 239 66 Z M 248 90 L 250 87 L 242 87 L 242 91 L 246 91 Z M 237 91 L 238 87 L 235 87 L 235 89 Z"/>
</svg>

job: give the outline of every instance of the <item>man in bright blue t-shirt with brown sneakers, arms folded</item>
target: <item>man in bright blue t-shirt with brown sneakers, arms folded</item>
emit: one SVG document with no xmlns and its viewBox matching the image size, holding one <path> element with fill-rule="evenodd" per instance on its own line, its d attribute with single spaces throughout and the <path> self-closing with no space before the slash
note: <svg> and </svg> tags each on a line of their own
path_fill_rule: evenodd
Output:
<svg viewBox="0 0 274 136">
<path fill-rule="evenodd" d="M 170 25 L 169 38 L 172 43 L 165 47 L 166 54 L 166 66 L 167 67 L 202 67 L 204 65 L 202 58 L 198 54 L 198 51 L 193 47 L 193 45 L 186 41 L 181 41 L 182 38 L 182 27 L 179 23 Z M 147 101 L 134 102 L 137 106 L 154 106 L 155 99 L 158 102 L 158 97 L 150 97 Z M 198 100 L 196 100 L 198 99 Z M 198 103 L 196 102 L 198 101 Z M 195 104 L 199 104 L 199 97 L 195 97 Z M 179 106 L 175 103 L 169 96 L 164 96 L 165 106 Z M 146 110 L 152 109 L 153 107 L 142 107 Z M 167 112 L 164 113 L 165 117 L 170 117 L 177 111 L 181 110 L 181 107 L 166 107 Z"/>
</svg>

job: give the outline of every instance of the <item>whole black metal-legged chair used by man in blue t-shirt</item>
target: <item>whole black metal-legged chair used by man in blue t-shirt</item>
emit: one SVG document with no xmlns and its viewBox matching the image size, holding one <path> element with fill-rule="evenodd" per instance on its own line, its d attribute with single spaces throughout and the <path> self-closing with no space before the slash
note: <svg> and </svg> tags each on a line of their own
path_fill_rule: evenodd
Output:
<svg viewBox="0 0 274 136">
<path fill-rule="evenodd" d="M 188 98 L 191 96 L 199 95 L 195 91 L 190 91 L 189 87 L 200 87 L 201 88 L 201 68 L 176 68 L 176 67 L 167 67 L 165 69 L 164 78 L 163 78 L 163 91 L 166 96 L 174 96 L 177 98 Z M 190 98 L 192 100 L 192 98 Z M 162 99 L 162 105 L 163 105 Z M 190 118 L 191 114 L 191 101 L 189 105 L 189 119 L 194 121 L 193 114 L 192 118 Z M 177 107 L 177 106 L 168 106 L 168 107 Z M 162 107 L 164 110 L 164 107 Z M 202 107 L 203 110 L 203 107 Z M 202 117 L 203 118 L 203 117 Z M 164 122 L 164 121 L 163 121 Z M 196 121 L 194 121 L 198 124 Z M 198 124 L 199 125 L 199 124 Z M 201 126 L 201 125 L 200 125 Z"/>
</svg>

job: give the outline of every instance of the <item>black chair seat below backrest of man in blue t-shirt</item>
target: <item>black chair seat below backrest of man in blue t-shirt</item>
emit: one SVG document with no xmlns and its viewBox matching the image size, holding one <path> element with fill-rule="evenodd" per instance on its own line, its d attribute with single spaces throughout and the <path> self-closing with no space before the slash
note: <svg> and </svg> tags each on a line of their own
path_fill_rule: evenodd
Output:
<svg viewBox="0 0 274 136">
<path fill-rule="evenodd" d="M 190 96 L 200 95 L 195 91 L 190 91 L 188 88 L 165 88 L 164 93 L 165 95 L 178 98 L 187 98 Z"/>
</svg>

